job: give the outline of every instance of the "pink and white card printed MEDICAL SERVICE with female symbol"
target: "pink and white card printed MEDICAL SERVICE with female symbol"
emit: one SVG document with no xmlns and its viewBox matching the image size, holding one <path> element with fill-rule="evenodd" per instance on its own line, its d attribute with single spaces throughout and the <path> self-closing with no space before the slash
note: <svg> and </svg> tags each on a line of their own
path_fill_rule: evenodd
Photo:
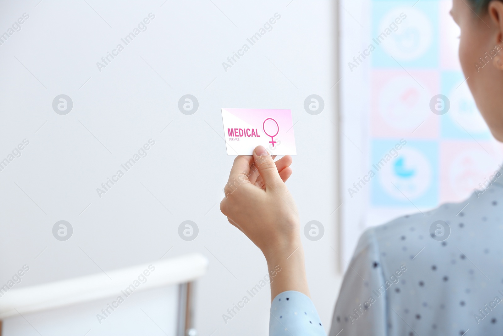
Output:
<svg viewBox="0 0 503 336">
<path fill-rule="evenodd" d="M 253 155 L 264 146 L 271 155 L 296 155 L 291 110 L 222 108 L 227 155 Z"/>
</svg>

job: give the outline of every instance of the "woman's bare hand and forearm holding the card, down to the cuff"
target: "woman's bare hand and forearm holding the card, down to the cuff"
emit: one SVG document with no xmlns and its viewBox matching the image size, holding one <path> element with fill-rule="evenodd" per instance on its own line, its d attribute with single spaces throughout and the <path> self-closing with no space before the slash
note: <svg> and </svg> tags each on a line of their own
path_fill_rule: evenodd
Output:
<svg viewBox="0 0 503 336">
<path fill-rule="evenodd" d="M 273 298 L 288 290 L 309 295 L 299 215 L 284 183 L 292 174 L 291 161 L 285 156 L 275 163 L 262 146 L 253 156 L 236 157 L 220 203 L 229 222 L 262 250 L 271 275 L 276 271 Z"/>
</svg>

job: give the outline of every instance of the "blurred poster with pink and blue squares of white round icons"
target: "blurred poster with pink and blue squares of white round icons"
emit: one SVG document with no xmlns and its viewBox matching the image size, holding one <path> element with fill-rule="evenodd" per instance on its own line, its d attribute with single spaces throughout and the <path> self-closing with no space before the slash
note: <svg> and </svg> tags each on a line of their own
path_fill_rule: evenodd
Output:
<svg viewBox="0 0 503 336">
<path fill-rule="evenodd" d="M 353 11 L 354 18 L 343 13 L 343 41 L 355 30 L 344 26 L 354 25 L 351 21 L 358 21 L 363 33 L 359 43 L 343 42 L 342 99 L 348 86 L 366 88 L 369 96 L 360 124 L 343 128 L 348 138 L 355 135 L 343 160 L 354 162 L 354 145 L 361 149 L 359 175 L 348 173 L 350 168 L 343 172 L 343 252 L 349 258 L 357 233 L 366 228 L 458 203 L 483 189 L 503 161 L 503 147 L 491 136 L 461 71 L 452 1 L 369 0 L 359 9 L 348 6 L 346 15 Z M 342 115 L 349 119 L 351 113 L 343 103 Z M 363 129 L 360 139 L 352 132 L 356 127 Z M 357 210 L 363 215 L 355 222 L 351 213 L 354 218 Z"/>
</svg>

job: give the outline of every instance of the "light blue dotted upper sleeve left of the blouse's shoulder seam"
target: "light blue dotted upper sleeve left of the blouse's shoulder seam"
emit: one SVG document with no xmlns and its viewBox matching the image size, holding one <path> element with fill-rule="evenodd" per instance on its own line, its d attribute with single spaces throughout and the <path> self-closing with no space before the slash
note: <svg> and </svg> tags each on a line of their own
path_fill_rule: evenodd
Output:
<svg viewBox="0 0 503 336">
<path fill-rule="evenodd" d="M 344 276 L 330 336 L 387 335 L 387 296 L 373 229 L 364 232 Z"/>
</svg>

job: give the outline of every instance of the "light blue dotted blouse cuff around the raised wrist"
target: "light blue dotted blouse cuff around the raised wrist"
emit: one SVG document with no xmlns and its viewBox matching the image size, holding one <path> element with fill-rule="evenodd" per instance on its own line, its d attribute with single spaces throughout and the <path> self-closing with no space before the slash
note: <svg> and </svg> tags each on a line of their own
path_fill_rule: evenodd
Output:
<svg viewBox="0 0 503 336">
<path fill-rule="evenodd" d="M 287 291 L 271 304 L 269 336 L 325 336 L 318 313 L 306 295 Z"/>
</svg>

